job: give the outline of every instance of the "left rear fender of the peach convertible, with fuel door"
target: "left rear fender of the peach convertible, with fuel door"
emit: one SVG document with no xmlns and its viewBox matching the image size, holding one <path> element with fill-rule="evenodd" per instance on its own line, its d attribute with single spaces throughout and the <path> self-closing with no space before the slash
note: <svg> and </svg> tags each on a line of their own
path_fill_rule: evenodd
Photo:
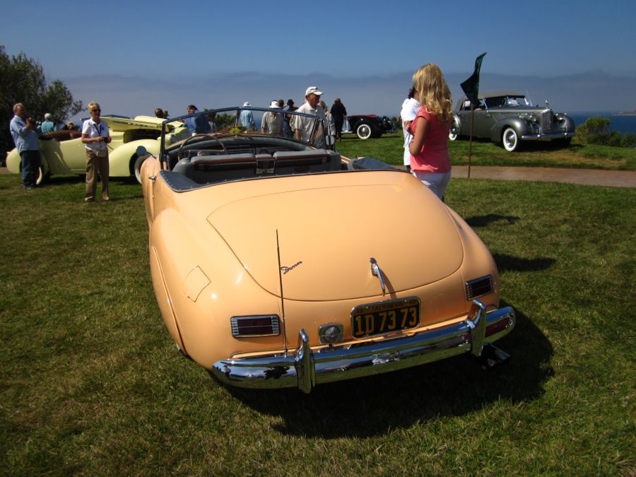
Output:
<svg viewBox="0 0 636 477">
<path fill-rule="evenodd" d="M 178 208 L 157 213 L 148 248 L 158 305 L 179 348 L 208 368 L 233 353 L 282 349 L 284 325 L 276 336 L 232 337 L 232 316 L 281 316 L 280 301 L 250 278 L 213 227 L 195 225 Z"/>
</svg>

